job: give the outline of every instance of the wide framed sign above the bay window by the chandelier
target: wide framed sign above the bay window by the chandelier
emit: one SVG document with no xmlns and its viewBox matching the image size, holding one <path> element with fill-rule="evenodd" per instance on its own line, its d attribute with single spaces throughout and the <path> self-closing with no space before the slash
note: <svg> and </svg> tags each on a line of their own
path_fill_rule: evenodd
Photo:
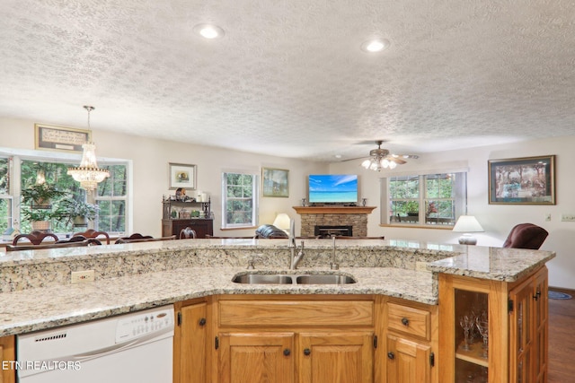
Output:
<svg viewBox="0 0 575 383">
<path fill-rule="evenodd" d="M 34 124 L 34 146 L 36 149 L 84 152 L 82 144 L 90 141 L 92 141 L 91 130 Z"/>
</svg>

